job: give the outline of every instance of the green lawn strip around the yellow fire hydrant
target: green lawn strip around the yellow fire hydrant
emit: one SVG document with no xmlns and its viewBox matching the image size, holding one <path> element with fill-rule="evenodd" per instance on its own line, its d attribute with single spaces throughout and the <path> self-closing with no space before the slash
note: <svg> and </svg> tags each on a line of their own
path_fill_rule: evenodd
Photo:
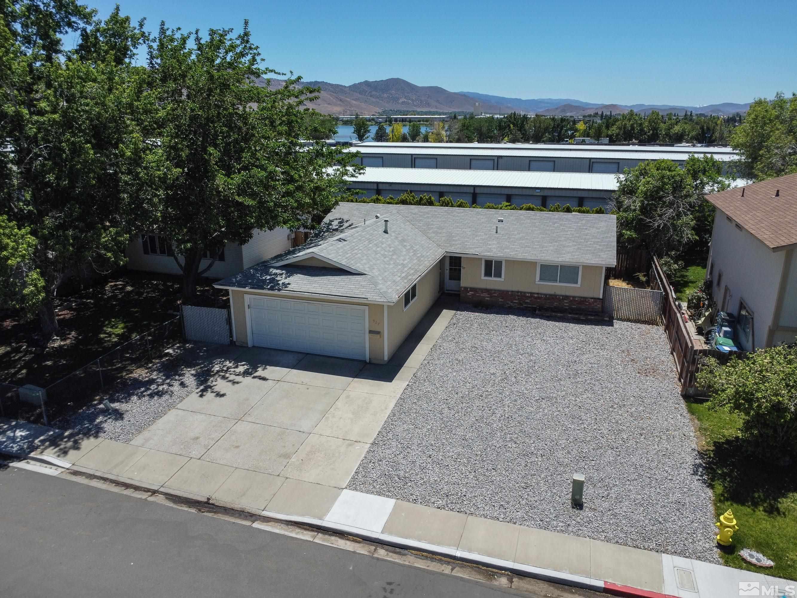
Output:
<svg viewBox="0 0 797 598">
<path fill-rule="evenodd" d="M 697 419 L 701 451 L 719 517 L 732 509 L 739 530 L 733 546 L 722 553 L 729 567 L 797 579 L 797 474 L 795 468 L 779 470 L 771 463 L 750 458 L 739 436 L 741 419 L 728 411 L 712 411 L 706 403 L 686 403 Z M 738 551 L 750 548 L 775 561 L 763 569 L 750 565 Z"/>
</svg>

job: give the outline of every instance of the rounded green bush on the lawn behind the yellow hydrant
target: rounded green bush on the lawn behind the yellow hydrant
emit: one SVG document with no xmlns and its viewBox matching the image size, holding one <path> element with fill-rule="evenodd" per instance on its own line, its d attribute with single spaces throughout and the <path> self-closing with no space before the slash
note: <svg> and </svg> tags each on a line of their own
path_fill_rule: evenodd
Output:
<svg viewBox="0 0 797 598">
<path fill-rule="evenodd" d="M 741 415 L 745 446 L 787 466 L 797 454 L 797 344 L 761 349 L 727 365 L 709 357 L 697 372 L 709 407 Z"/>
</svg>

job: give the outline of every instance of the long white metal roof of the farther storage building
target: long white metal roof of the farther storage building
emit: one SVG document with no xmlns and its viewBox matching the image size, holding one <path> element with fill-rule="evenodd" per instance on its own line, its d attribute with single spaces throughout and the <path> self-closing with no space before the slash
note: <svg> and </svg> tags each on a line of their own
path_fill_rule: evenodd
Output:
<svg viewBox="0 0 797 598">
<path fill-rule="evenodd" d="M 512 146 L 508 146 L 512 147 Z M 387 154 L 406 154 L 406 155 L 471 155 L 471 156 L 519 156 L 521 158 L 592 158 L 592 159 L 638 159 L 638 160 L 685 160 L 690 152 L 684 151 L 645 151 L 646 148 L 633 148 L 634 151 L 614 151 L 614 150 L 571 150 L 563 151 L 552 149 L 551 146 L 544 146 L 544 149 L 512 149 L 507 150 L 505 146 L 497 145 L 488 148 L 485 145 L 462 145 L 461 147 L 451 147 L 450 144 L 386 144 L 371 146 L 366 144 L 355 145 L 346 151 L 359 151 L 363 155 L 387 155 Z M 673 148 L 667 148 L 673 149 Z M 691 152 L 694 153 L 694 152 Z M 717 153 L 714 157 L 720 161 L 727 162 L 736 158 L 736 155 Z"/>
</svg>

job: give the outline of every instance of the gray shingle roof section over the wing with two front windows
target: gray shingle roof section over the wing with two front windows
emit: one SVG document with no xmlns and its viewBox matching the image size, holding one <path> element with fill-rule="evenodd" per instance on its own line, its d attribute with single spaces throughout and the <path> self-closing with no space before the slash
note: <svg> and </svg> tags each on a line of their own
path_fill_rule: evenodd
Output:
<svg viewBox="0 0 797 598">
<path fill-rule="evenodd" d="M 614 266 L 617 259 L 617 219 L 611 214 L 340 203 L 328 218 L 363 222 L 393 212 L 450 254 L 595 266 Z"/>
</svg>

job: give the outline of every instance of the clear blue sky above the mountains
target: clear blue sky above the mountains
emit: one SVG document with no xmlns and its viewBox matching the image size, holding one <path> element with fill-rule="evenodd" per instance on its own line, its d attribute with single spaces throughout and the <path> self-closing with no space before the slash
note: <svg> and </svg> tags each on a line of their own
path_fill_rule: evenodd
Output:
<svg viewBox="0 0 797 598">
<path fill-rule="evenodd" d="M 102 16 L 115 4 L 81 1 Z M 745 102 L 797 91 L 794 0 L 120 5 L 153 31 L 161 20 L 238 30 L 248 18 L 264 64 L 307 81 L 402 77 L 450 91 L 618 104 Z"/>
</svg>

